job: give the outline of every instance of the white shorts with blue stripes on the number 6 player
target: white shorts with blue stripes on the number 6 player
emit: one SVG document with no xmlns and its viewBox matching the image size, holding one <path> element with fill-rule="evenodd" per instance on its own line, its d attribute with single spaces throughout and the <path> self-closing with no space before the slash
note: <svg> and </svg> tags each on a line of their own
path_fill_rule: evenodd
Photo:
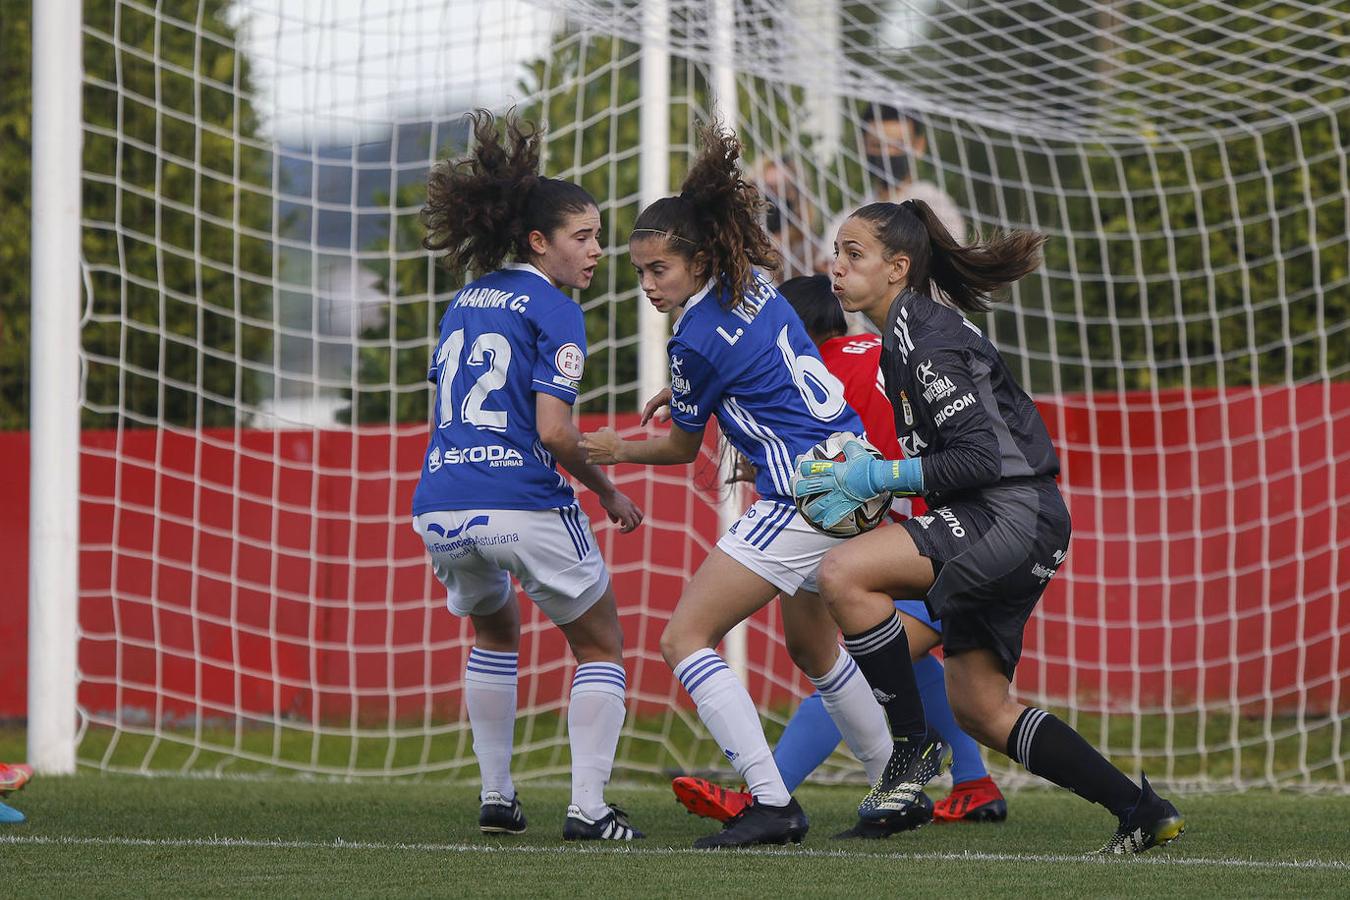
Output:
<svg viewBox="0 0 1350 900">
<path fill-rule="evenodd" d="M 801 590 L 818 592 L 815 569 L 841 537 L 821 534 L 791 503 L 756 501 L 722 534 L 717 546 L 733 560 L 791 596 Z"/>
</svg>

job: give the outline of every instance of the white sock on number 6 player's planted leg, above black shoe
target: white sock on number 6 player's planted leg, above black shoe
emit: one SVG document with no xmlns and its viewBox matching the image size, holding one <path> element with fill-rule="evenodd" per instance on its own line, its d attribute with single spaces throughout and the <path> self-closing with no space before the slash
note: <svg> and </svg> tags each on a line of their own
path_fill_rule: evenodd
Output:
<svg viewBox="0 0 1350 900">
<path fill-rule="evenodd" d="M 764 806 L 787 806 L 792 797 L 764 739 L 759 711 L 722 657 L 706 649 L 691 653 L 675 667 L 675 677 L 755 799 Z"/>
</svg>

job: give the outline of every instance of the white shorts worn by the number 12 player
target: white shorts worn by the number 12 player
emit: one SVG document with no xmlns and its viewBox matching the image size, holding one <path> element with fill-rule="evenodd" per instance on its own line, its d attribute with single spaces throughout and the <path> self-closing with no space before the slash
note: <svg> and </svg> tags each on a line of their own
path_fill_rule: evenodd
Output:
<svg viewBox="0 0 1350 900">
<path fill-rule="evenodd" d="M 446 510 L 413 518 L 455 615 L 491 615 L 512 598 L 510 576 L 554 621 L 567 625 L 609 587 L 580 506 L 547 510 Z"/>
</svg>

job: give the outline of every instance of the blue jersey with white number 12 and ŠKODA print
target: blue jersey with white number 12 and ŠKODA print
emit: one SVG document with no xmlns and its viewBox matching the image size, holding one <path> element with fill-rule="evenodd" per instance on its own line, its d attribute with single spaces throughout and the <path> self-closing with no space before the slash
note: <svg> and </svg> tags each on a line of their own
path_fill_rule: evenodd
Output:
<svg viewBox="0 0 1350 900">
<path fill-rule="evenodd" d="M 455 294 L 427 372 L 435 426 L 413 515 L 570 506 L 572 488 L 539 440 L 535 393 L 576 402 L 585 362 L 580 306 L 533 266 L 508 266 Z"/>
</svg>

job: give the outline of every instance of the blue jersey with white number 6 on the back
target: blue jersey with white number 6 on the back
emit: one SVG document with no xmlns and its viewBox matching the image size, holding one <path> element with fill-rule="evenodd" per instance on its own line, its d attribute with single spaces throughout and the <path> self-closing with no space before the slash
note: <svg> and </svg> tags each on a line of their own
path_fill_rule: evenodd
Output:
<svg viewBox="0 0 1350 900">
<path fill-rule="evenodd" d="M 778 289 L 756 281 L 734 309 L 711 283 L 684 304 L 667 351 L 671 420 L 687 432 L 710 417 L 755 464 L 765 499 L 792 502 L 792 460 L 834 432 L 863 433 L 844 386 L 825 368 Z"/>
</svg>

